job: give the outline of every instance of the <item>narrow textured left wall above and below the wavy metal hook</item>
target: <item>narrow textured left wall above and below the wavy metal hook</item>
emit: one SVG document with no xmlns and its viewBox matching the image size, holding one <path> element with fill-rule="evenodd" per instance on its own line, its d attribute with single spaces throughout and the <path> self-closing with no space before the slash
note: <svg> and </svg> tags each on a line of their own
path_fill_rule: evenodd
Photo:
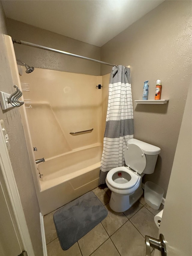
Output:
<svg viewBox="0 0 192 256">
<path fill-rule="evenodd" d="M 7 34 L 5 16 L 0 1 L 0 90 L 13 93 L 13 80 L 10 73 L 7 52 L 2 33 Z M 16 179 L 23 211 L 26 217 L 29 234 L 35 255 L 42 256 L 42 239 L 39 218 L 39 206 L 35 193 L 31 167 L 29 164 L 26 141 L 19 109 L 2 110 L 0 107 L 0 119 L 4 120 L 10 142 L 10 161 Z M 2 230 L 1 230 L 2 231 Z"/>
</svg>

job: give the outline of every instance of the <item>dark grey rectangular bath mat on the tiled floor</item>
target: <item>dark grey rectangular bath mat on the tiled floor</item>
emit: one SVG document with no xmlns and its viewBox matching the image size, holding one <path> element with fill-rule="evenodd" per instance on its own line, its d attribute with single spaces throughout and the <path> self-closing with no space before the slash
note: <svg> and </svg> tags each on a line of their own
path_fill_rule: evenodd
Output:
<svg viewBox="0 0 192 256">
<path fill-rule="evenodd" d="M 92 191 L 63 206 L 53 215 L 61 248 L 70 248 L 105 217 L 107 210 Z"/>
</svg>

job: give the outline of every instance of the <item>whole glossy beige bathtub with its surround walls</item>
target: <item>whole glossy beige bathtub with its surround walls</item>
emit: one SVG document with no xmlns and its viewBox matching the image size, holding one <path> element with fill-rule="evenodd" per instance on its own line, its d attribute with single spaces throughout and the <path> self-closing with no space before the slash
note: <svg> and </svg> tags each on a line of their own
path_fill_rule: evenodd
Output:
<svg viewBox="0 0 192 256">
<path fill-rule="evenodd" d="M 35 173 L 45 215 L 98 186 L 109 80 L 108 75 L 102 81 L 102 77 L 41 68 L 19 78 L 29 84 L 23 97 L 31 100 L 25 110 L 31 147 L 38 149 L 33 154 L 45 158 Z M 98 84 L 103 88 L 96 89 Z"/>
</svg>

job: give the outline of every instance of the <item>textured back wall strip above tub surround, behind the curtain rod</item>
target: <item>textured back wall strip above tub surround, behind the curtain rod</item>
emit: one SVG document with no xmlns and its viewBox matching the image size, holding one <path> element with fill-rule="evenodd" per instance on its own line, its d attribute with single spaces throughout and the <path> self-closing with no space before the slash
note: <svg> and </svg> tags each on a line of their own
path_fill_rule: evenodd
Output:
<svg viewBox="0 0 192 256">
<path fill-rule="evenodd" d="M 26 23 L 7 19 L 7 32 L 14 39 L 62 50 L 65 52 L 100 60 L 100 47 L 40 29 Z M 14 44 L 16 59 L 36 68 L 100 75 L 100 64 L 53 53 L 26 45 Z"/>
</svg>

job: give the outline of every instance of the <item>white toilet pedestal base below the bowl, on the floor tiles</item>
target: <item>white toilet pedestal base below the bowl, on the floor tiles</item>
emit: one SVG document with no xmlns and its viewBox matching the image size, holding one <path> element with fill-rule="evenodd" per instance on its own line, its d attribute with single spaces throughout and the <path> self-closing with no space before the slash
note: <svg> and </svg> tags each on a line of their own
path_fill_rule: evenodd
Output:
<svg viewBox="0 0 192 256">
<path fill-rule="evenodd" d="M 125 195 L 125 194 L 119 194 L 116 192 L 111 193 L 110 197 L 110 208 L 114 212 L 125 212 L 127 211 L 134 203 L 139 200 L 139 198 L 143 194 L 143 189 L 141 188 L 141 185 L 137 190 L 131 194 L 131 195 Z"/>
</svg>

